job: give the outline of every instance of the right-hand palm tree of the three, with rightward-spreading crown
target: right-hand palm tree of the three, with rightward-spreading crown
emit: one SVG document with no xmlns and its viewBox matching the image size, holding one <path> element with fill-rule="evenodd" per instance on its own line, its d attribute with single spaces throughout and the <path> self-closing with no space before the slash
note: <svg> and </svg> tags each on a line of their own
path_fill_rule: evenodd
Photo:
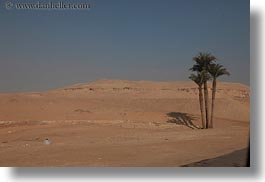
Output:
<svg viewBox="0 0 265 182">
<path fill-rule="evenodd" d="M 214 115 L 214 101 L 215 101 L 215 94 L 216 94 L 216 79 L 222 75 L 230 75 L 226 68 L 224 68 L 220 64 L 210 64 L 208 68 L 208 72 L 212 76 L 213 79 L 213 86 L 212 86 L 212 110 L 211 110 L 211 121 L 210 121 L 210 128 L 213 128 L 213 115 Z"/>
</svg>

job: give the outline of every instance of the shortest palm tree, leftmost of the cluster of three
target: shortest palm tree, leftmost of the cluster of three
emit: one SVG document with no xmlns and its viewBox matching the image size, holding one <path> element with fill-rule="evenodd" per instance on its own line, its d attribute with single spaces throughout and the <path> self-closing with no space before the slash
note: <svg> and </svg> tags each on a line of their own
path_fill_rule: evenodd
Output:
<svg viewBox="0 0 265 182">
<path fill-rule="evenodd" d="M 205 79 L 207 78 L 207 74 L 205 73 L 197 73 L 197 75 L 195 74 L 191 74 L 189 79 L 191 79 L 192 81 L 194 81 L 197 85 L 198 85 L 198 89 L 199 89 L 199 103 L 200 103 L 200 110 L 201 110 L 201 122 L 202 122 L 202 128 L 205 128 L 205 121 L 204 121 L 204 107 L 203 107 L 203 94 L 202 94 L 202 85 L 204 83 Z"/>
</svg>

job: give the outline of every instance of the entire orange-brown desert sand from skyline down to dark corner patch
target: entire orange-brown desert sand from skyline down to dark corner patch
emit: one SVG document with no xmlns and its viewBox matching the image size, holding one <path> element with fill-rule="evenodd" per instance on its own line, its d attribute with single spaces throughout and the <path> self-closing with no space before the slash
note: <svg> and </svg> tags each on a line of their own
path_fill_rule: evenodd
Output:
<svg viewBox="0 0 265 182">
<path fill-rule="evenodd" d="M 182 166 L 244 149 L 250 89 L 217 87 L 214 129 L 207 130 L 196 129 L 193 82 L 99 80 L 1 93 L 0 166 Z"/>
</svg>

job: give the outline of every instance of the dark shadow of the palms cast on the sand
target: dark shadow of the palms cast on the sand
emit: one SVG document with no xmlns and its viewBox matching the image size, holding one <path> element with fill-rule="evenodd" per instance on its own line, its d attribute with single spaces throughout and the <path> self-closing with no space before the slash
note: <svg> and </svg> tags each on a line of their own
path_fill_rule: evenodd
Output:
<svg viewBox="0 0 265 182">
<path fill-rule="evenodd" d="M 167 113 L 167 116 L 173 118 L 167 121 L 167 123 L 175 123 L 177 125 L 184 125 L 192 129 L 199 129 L 198 126 L 193 124 L 193 120 L 195 117 L 193 117 L 190 114 L 182 113 L 182 112 L 170 112 Z"/>
</svg>

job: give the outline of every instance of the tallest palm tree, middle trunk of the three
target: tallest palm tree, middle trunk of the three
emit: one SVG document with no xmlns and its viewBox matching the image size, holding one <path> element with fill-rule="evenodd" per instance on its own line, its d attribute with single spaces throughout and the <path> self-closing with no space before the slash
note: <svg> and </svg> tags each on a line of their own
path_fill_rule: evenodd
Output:
<svg viewBox="0 0 265 182">
<path fill-rule="evenodd" d="M 193 65 L 193 67 L 190 70 L 196 71 L 198 73 L 204 72 L 204 74 L 207 74 L 209 65 L 213 64 L 215 60 L 216 60 L 216 57 L 214 57 L 210 53 L 200 52 L 196 57 L 193 58 L 193 61 L 195 61 L 195 65 Z M 209 79 L 205 79 L 203 82 L 206 128 L 209 127 L 209 101 L 208 101 L 209 98 L 208 98 L 208 86 L 207 86 L 208 80 Z"/>
</svg>

